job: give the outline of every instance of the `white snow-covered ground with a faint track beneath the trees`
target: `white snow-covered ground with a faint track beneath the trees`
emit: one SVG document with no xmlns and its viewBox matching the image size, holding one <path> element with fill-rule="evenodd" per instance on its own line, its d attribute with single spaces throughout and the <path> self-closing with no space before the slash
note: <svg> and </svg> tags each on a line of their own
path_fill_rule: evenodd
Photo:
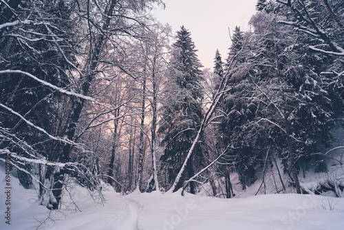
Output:
<svg viewBox="0 0 344 230">
<path fill-rule="evenodd" d="M 1 190 L 4 176 L 0 167 Z M 11 224 L 6 224 L 1 191 L 0 229 L 344 229 L 343 198 L 268 194 L 222 199 L 158 192 L 120 196 L 105 187 L 107 201 L 102 205 L 76 185 L 69 188 L 76 203 L 66 196 L 65 210 L 50 211 L 37 205 L 34 189 L 24 189 L 14 177 L 11 185 Z"/>
</svg>

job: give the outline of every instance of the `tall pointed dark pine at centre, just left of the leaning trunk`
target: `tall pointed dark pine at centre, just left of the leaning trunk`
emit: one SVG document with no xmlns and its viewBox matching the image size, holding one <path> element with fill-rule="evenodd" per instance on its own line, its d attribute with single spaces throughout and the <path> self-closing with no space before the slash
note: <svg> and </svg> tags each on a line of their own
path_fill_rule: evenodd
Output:
<svg viewBox="0 0 344 230">
<path fill-rule="evenodd" d="M 202 64 L 197 59 L 196 51 L 191 33 L 182 26 L 172 45 L 171 67 L 169 79 L 166 79 L 166 98 L 162 108 L 164 114 L 159 130 L 164 134 L 162 145 L 165 147 L 160 160 L 166 164 L 170 181 L 180 171 L 202 121 Z M 197 144 L 196 148 L 198 154 L 189 160 L 175 190 L 182 187 L 183 182 L 191 178 L 195 169 L 202 165 L 201 144 Z M 191 193 L 195 194 L 195 182 L 191 182 L 190 186 Z"/>
</svg>

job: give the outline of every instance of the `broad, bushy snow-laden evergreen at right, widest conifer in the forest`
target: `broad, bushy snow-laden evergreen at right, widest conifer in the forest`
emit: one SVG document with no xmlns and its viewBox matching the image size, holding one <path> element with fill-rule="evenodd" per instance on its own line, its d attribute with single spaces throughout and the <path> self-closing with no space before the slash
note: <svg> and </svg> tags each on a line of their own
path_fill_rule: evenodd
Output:
<svg viewBox="0 0 344 230">
<path fill-rule="evenodd" d="M 257 98 L 267 103 L 259 109 L 257 119 L 269 121 L 256 132 L 268 131 L 266 143 L 281 149 L 277 155 L 283 158 L 284 171 L 291 174 L 297 193 L 301 193 L 299 165 L 316 165 L 314 171 L 326 171 L 323 159 L 312 153 L 328 145 L 335 110 L 341 110 L 343 102 L 329 87 L 329 79 L 318 74 L 325 63 L 312 58 L 306 45 L 310 43 L 308 35 L 294 32 L 276 19 L 277 15 L 266 12 L 251 19 L 256 44 L 251 61 L 255 74 L 251 76 L 257 95 L 263 95 Z"/>
</svg>

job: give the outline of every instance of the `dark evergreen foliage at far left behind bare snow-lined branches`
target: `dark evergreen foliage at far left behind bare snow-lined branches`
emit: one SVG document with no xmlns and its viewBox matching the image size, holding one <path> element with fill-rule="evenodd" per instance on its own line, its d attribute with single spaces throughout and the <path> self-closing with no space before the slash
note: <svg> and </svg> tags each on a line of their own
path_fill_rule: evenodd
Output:
<svg viewBox="0 0 344 230">
<path fill-rule="evenodd" d="M 67 2 L 60 0 L 41 3 L 25 1 L 19 4 L 17 16 L 3 22 L 10 23 L 18 17 L 34 23 L 23 23 L 15 30 L 1 31 L 4 36 L 0 38 L 0 70 L 21 70 L 58 87 L 69 85 L 66 73 L 69 64 L 65 58 L 73 61 L 73 47 L 76 47 L 70 43 L 73 36 L 72 23 L 69 21 L 71 8 Z M 3 74 L 0 84 L 3 105 L 19 112 L 50 134 L 61 134 L 61 130 L 56 127 L 59 106 L 63 100 L 60 94 L 22 74 Z M 58 143 L 48 140 L 45 134 L 22 122 L 18 116 L 2 112 L 0 122 L 11 134 L 34 146 L 32 150 L 35 155 L 44 156 L 47 160 L 58 160 L 58 152 L 54 151 Z M 1 147 L 8 146 L 10 151 L 30 157 L 25 149 L 16 144 L 17 141 L 11 142 L 8 138 L 1 143 Z M 24 165 L 24 169 L 31 171 L 30 165 Z M 21 171 L 19 180 L 26 187 L 31 185 L 31 176 Z"/>
</svg>

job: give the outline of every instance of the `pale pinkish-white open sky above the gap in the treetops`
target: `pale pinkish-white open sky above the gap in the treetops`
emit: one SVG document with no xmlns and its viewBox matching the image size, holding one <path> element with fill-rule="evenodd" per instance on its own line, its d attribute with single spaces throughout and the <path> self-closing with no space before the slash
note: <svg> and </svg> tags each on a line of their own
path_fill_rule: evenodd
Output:
<svg viewBox="0 0 344 230">
<path fill-rule="evenodd" d="M 249 29 L 248 21 L 255 14 L 257 0 L 163 0 L 166 9 L 157 8 L 153 15 L 161 23 L 169 23 L 175 32 L 184 25 L 198 50 L 204 67 L 213 69 L 216 49 L 226 59 L 230 46 L 228 28 Z"/>
</svg>

